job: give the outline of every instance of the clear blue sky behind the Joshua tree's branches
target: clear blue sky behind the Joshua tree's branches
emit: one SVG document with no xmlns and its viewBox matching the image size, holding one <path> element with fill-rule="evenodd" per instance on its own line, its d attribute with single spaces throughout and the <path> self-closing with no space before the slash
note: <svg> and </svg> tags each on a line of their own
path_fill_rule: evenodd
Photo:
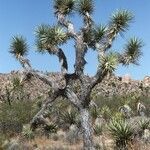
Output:
<svg viewBox="0 0 150 150">
<path fill-rule="evenodd" d="M 119 67 L 117 75 L 130 74 L 134 79 L 142 79 L 150 75 L 150 1 L 149 0 L 95 0 L 93 14 L 96 23 L 106 24 L 110 15 L 117 9 L 128 9 L 135 15 L 134 22 L 124 37 L 118 37 L 112 49 L 123 50 L 126 41 L 133 36 L 140 37 L 145 46 L 140 66 Z M 37 25 L 55 23 L 52 0 L 0 0 L 0 72 L 21 69 L 20 64 L 9 54 L 11 37 L 16 34 L 24 35 L 30 46 L 28 58 L 35 69 L 43 71 L 59 71 L 60 66 L 56 57 L 36 52 L 34 31 Z M 73 22 L 79 27 L 80 17 L 73 15 Z M 70 41 L 63 49 L 70 64 L 69 71 L 73 71 L 74 47 Z M 97 53 L 89 51 L 86 55 L 88 64 L 85 73 L 94 75 L 97 67 Z"/>
</svg>

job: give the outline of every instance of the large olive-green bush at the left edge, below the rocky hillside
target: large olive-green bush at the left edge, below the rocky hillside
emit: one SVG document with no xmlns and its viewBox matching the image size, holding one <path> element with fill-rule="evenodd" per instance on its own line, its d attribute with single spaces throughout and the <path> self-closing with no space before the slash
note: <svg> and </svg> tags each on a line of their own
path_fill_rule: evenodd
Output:
<svg viewBox="0 0 150 150">
<path fill-rule="evenodd" d="M 13 100 L 12 104 L 1 103 L 0 105 L 0 132 L 4 134 L 20 133 L 23 124 L 31 121 L 36 113 L 30 100 Z"/>
</svg>

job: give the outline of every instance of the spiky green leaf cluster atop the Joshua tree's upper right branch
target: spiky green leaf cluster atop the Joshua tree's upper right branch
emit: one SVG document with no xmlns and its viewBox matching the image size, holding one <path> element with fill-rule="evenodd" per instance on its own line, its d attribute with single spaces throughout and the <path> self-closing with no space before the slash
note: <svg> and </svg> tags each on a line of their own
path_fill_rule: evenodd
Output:
<svg viewBox="0 0 150 150">
<path fill-rule="evenodd" d="M 116 32 L 125 32 L 133 20 L 133 15 L 127 10 L 118 10 L 110 19 L 110 25 L 115 28 Z"/>
</svg>

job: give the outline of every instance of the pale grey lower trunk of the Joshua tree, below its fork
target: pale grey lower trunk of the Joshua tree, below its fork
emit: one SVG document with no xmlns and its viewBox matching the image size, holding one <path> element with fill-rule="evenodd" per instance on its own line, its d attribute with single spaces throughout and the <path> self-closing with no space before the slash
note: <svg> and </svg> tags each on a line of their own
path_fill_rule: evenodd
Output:
<svg viewBox="0 0 150 150">
<path fill-rule="evenodd" d="M 88 108 L 80 109 L 81 127 L 83 130 L 84 150 L 95 150 L 93 144 L 93 129 Z"/>
</svg>

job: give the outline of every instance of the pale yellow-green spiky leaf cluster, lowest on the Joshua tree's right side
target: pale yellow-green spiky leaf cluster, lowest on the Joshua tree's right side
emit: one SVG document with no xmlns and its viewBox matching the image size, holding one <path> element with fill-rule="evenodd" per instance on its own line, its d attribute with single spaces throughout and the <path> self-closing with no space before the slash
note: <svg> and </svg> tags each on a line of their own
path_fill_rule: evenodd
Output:
<svg viewBox="0 0 150 150">
<path fill-rule="evenodd" d="M 118 65 L 118 55 L 117 53 L 110 52 L 99 61 L 101 63 L 100 67 L 103 71 L 112 73 Z"/>
</svg>

